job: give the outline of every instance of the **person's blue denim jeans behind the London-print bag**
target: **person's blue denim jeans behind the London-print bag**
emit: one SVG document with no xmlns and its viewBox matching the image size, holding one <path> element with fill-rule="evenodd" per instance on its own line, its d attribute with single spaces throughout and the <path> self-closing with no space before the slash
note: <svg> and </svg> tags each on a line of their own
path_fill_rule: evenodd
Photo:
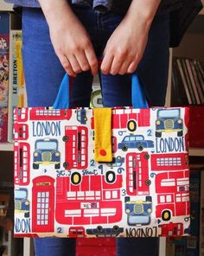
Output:
<svg viewBox="0 0 204 256">
<path fill-rule="evenodd" d="M 101 14 L 89 7 L 73 7 L 91 36 L 100 58 L 105 44 L 123 16 Z M 22 11 L 22 54 L 29 106 L 52 106 L 65 70 L 49 38 L 48 24 L 38 9 Z M 59 40 L 61 40 L 59 38 Z M 169 68 L 169 16 L 156 16 L 137 74 L 151 106 L 163 106 Z M 104 106 L 131 106 L 131 75 L 101 75 Z M 73 80 L 70 106 L 89 106 L 92 75 L 84 72 Z M 118 256 L 157 255 L 158 239 L 118 239 Z M 74 239 L 35 239 L 37 256 L 75 255 Z"/>
</svg>

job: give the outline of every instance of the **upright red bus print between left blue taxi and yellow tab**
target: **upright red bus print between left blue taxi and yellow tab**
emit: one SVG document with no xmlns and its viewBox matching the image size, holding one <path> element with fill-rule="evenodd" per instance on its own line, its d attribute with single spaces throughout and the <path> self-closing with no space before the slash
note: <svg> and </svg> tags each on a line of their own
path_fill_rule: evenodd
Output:
<svg viewBox="0 0 204 256">
<path fill-rule="evenodd" d="M 88 129 L 86 126 L 66 125 L 65 169 L 86 169 L 88 166 Z"/>
</svg>

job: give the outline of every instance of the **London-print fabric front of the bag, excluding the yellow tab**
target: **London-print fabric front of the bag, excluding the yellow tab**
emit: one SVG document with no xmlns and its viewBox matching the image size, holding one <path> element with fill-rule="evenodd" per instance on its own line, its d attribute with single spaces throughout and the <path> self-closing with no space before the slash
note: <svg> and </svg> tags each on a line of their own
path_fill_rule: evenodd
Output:
<svg viewBox="0 0 204 256">
<path fill-rule="evenodd" d="M 112 163 L 92 109 L 15 110 L 16 236 L 189 233 L 188 108 L 112 108 Z"/>
</svg>

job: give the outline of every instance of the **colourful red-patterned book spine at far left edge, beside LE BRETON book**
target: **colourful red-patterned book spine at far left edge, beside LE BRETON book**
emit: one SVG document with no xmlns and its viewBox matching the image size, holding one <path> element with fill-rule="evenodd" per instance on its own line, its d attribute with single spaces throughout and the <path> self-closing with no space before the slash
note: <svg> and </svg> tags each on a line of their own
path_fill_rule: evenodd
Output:
<svg viewBox="0 0 204 256">
<path fill-rule="evenodd" d="M 0 12 L 0 142 L 8 136 L 10 14 Z"/>
</svg>

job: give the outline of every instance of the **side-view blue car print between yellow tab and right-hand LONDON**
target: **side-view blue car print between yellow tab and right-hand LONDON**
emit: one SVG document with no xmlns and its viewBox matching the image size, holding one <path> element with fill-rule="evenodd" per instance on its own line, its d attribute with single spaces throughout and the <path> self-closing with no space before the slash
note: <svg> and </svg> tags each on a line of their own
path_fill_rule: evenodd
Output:
<svg viewBox="0 0 204 256">
<path fill-rule="evenodd" d="M 127 151 L 128 149 L 154 148 L 152 140 L 145 140 L 143 135 L 128 135 L 125 136 L 121 143 L 118 143 L 118 149 Z"/>
</svg>

